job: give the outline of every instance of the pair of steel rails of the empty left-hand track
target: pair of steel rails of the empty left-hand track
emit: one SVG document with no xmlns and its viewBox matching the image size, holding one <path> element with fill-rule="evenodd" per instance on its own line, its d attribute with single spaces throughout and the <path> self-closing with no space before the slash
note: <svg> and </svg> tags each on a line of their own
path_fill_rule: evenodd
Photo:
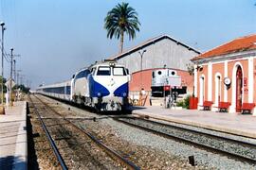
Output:
<svg viewBox="0 0 256 170">
<path fill-rule="evenodd" d="M 37 97 L 36 95 L 33 95 L 34 98 L 37 99 L 37 103 L 41 103 L 42 105 L 44 105 L 45 111 L 46 112 L 51 112 L 54 113 L 55 115 L 58 115 L 61 119 L 63 119 L 68 125 L 76 128 L 77 130 L 79 130 L 80 132 L 82 132 L 83 135 L 87 136 L 93 143 L 97 144 L 99 147 L 101 147 L 101 149 L 108 155 L 110 156 L 113 160 L 115 161 L 119 161 L 120 164 L 122 164 L 122 166 L 128 168 L 128 169 L 135 169 L 138 170 L 140 169 L 135 163 L 133 163 L 132 161 L 127 160 L 126 158 L 124 158 L 123 156 L 121 156 L 117 151 L 113 150 L 112 148 L 110 148 L 109 146 L 107 146 L 106 144 L 103 144 L 101 142 L 101 140 L 97 139 L 97 137 L 95 137 L 94 135 L 92 135 L 89 131 L 87 131 L 86 129 L 82 128 L 82 127 L 78 127 L 76 124 L 74 124 L 73 122 L 71 122 L 69 119 L 65 118 L 62 114 L 60 114 L 57 110 L 52 109 L 51 107 L 48 106 L 48 104 L 46 102 L 44 102 L 43 100 L 41 100 L 39 97 Z M 35 106 L 35 102 L 32 101 L 31 97 L 29 96 L 29 99 L 31 101 L 32 106 L 34 107 L 38 118 L 46 132 L 46 136 L 47 136 L 47 140 L 49 141 L 49 143 L 51 144 L 52 149 L 54 150 L 54 153 L 56 155 L 56 158 L 58 159 L 58 161 L 60 162 L 61 166 L 63 169 L 67 169 L 64 159 L 62 158 L 56 144 L 54 143 L 54 140 L 52 139 L 52 137 L 50 136 L 46 124 L 44 123 L 44 118 L 41 117 L 40 115 L 40 111 L 37 110 L 36 106 Z M 49 118 L 46 118 L 49 119 Z"/>
</svg>

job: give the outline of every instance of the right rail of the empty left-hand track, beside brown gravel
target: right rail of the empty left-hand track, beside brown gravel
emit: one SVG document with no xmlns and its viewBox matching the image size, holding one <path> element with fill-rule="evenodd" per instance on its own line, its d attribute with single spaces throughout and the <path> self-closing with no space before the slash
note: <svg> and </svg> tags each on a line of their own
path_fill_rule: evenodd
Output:
<svg viewBox="0 0 256 170">
<path fill-rule="evenodd" d="M 91 133 L 89 133 L 88 131 L 86 131 L 85 129 L 83 129 L 82 127 L 78 127 L 77 125 L 75 125 L 73 122 L 71 122 L 70 120 L 68 120 L 67 118 L 65 118 L 63 115 L 61 115 L 59 112 L 57 112 L 56 110 L 52 109 L 51 107 L 49 107 L 44 101 L 42 101 L 39 97 L 37 97 L 36 95 L 34 95 L 41 103 L 43 103 L 47 109 L 53 111 L 55 114 L 63 117 L 63 119 L 65 121 L 67 121 L 71 126 L 77 128 L 78 130 L 80 130 L 83 134 L 85 134 L 86 136 L 88 136 L 95 144 L 99 145 L 112 159 L 114 160 L 118 160 L 121 164 L 125 165 L 128 169 L 134 169 L 134 170 L 140 170 L 140 168 L 132 161 L 129 161 L 127 159 L 125 159 L 124 157 L 122 157 L 118 152 L 116 152 L 115 150 L 111 149 L 110 147 L 108 147 L 107 145 L 103 144 L 101 142 L 101 140 L 97 139 L 95 136 L 93 136 Z"/>
</svg>

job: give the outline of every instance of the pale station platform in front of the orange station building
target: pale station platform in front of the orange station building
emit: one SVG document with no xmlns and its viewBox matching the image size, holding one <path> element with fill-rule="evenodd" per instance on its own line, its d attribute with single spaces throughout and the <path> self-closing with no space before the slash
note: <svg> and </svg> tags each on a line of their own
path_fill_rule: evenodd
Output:
<svg viewBox="0 0 256 170">
<path fill-rule="evenodd" d="M 251 114 L 210 110 L 171 110 L 162 106 L 137 107 L 132 113 L 256 139 L 256 116 Z"/>
</svg>

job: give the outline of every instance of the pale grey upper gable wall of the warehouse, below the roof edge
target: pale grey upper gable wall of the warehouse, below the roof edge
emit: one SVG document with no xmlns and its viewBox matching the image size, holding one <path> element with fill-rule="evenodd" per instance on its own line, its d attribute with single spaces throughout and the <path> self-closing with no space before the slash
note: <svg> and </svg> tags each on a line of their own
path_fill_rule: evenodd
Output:
<svg viewBox="0 0 256 170">
<path fill-rule="evenodd" d="M 182 44 L 165 38 L 152 43 L 143 49 L 125 55 L 118 60 L 119 63 L 128 67 L 130 73 L 139 71 L 141 58 L 138 51 L 143 51 L 144 49 L 147 51 L 143 55 L 142 70 L 161 68 L 164 64 L 170 68 L 187 70 L 186 64 L 191 62 L 190 59 L 198 56 L 193 50 L 189 50 Z"/>
</svg>

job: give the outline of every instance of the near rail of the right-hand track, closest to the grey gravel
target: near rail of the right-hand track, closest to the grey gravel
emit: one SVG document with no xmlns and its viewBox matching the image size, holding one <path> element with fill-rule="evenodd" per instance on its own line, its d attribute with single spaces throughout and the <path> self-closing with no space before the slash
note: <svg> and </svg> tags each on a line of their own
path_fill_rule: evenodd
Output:
<svg viewBox="0 0 256 170">
<path fill-rule="evenodd" d="M 256 160 L 248 158 L 248 157 L 245 157 L 245 156 L 242 156 L 242 155 L 239 155 L 239 154 L 235 154 L 235 153 L 231 153 L 229 151 L 221 150 L 221 149 L 218 149 L 216 147 L 212 147 L 212 146 L 207 145 L 207 144 L 196 143 L 194 141 L 191 141 L 191 140 L 188 140 L 188 139 L 184 139 L 182 137 L 178 137 L 178 136 L 175 136 L 173 134 L 157 131 L 157 130 L 152 129 L 152 128 L 142 127 L 142 126 L 139 126 L 137 124 L 133 124 L 133 123 L 130 123 L 130 122 L 127 122 L 127 121 L 124 121 L 124 120 L 120 120 L 119 118 L 113 118 L 113 119 L 118 121 L 118 122 L 120 122 L 120 123 L 126 124 L 128 126 L 137 127 L 137 128 L 143 129 L 145 131 L 149 131 L 149 132 L 155 133 L 155 134 L 157 134 L 159 136 L 162 136 L 162 137 L 165 137 L 165 138 L 169 138 L 169 139 L 173 139 L 173 140 L 175 140 L 177 142 L 182 142 L 184 144 L 192 144 L 192 145 L 194 145 L 194 146 L 196 146 L 198 148 L 203 148 L 205 150 L 210 150 L 212 152 L 217 152 L 217 153 L 220 153 L 222 155 L 231 157 L 231 158 L 233 158 L 235 160 L 247 161 L 248 163 L 256 164 Z M 187 129 L 185 128 L 183 130 L 187 130 Z"/>
</svg>

